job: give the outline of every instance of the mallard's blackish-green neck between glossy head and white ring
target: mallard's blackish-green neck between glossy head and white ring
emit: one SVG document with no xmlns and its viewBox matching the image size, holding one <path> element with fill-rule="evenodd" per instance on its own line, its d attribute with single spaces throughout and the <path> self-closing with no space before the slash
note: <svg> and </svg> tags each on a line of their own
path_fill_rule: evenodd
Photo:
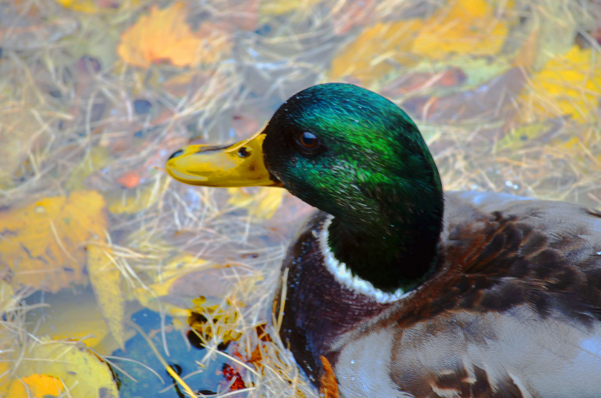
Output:
<svg viewBox="0 0 601 398">
<path fill-rule="evenodd" d="M 442 187 L 435 167 L 432 173 L 432 180 L 413 182 L 409 192 L 382 195 L 375 216 L 334 217 L 328 246 L 335 259 L 386 293 L 421 283 L 433 268 L 442 230 Z"/>
</svg>

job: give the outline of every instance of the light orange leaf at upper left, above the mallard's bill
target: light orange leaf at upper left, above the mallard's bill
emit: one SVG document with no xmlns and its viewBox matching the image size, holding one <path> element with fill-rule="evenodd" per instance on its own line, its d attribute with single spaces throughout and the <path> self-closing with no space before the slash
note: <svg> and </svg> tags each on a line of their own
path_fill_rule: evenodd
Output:
<svg viewBox="0 0 601 398">
<path fill-rule="evenodd" d="M 154 5 L 123 32 L 117 53 L 126 63 L 147 68 L 163 61 L 175 66 L 213 63 L 229 52 L 230 32 L 210 23 L 192 32 L 186 16 L 188 7 L 183 2 L 163 10 Z"/>
</svg>

